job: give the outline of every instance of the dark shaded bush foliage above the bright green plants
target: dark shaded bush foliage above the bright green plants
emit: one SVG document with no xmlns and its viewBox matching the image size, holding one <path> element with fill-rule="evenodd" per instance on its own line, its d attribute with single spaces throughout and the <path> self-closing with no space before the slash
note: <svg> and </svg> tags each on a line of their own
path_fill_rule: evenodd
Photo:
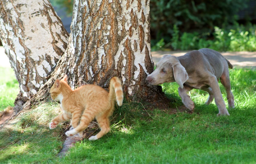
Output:
<svg viewBox="0 0 256 164">
<path fill-rule="evenodd" d="M 234 16 L 246 7 L 247 0 L 151 0 L 152 39 L 169 42 L 174 26 L 183 32 L 212 32 L 214 26 L 233 23 Z M 174 48 L 175 49 L 175 48 Z"/>
</svg>

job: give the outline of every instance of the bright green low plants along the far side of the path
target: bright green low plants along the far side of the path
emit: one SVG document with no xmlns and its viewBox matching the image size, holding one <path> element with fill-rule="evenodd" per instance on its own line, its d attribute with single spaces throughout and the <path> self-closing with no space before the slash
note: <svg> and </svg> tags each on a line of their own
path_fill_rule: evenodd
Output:
<svg viewBox="0 0 256 164">
<path fill-rule="evenodd" d="M 256 51 L 256 25 L 249 24 L 247 27 L 236 25 L 231 28 L 221 29 L 214 27 L 213 36 L 210 33 L 198 34 L 184 32 L 179 37 L 179 29 L 174 26 L 171 45 L 174 50 L 193 50 L 211 48 L 216 51 Z M 209 39 L 211 38 L 212 39 Z M 164 43 L 164 40 L 161 40 Z M 170 44 L 161 45 L 167 48 Z M 153 50 L 158 50 L 157 47 Z M 152 51 L 153 51 L 152 50 Z"/>
</svg>

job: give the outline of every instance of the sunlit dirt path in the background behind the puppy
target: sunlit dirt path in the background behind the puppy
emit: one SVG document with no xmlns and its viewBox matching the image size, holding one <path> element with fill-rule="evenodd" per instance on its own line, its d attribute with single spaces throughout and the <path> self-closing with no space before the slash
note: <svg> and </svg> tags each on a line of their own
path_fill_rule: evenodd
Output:
<svg viewBox="0 0 256 164">
<path fill-rule="evenodd" d="M 156 64 L 164 54 L 182 56 L 190 51 L 153 51 L 151 52 L 154 63 Z M 236 67 L 256 67 L 256 52 L 220 52 L 228 61 Z"/>
</svg>

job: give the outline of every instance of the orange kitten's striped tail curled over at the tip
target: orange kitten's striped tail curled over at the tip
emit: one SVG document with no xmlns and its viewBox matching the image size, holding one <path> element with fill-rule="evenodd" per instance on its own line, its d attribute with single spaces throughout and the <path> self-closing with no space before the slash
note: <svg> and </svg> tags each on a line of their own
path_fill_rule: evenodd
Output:
<svg viewBox="0 0 256 164">
<path fill-rule="evenodd" d="M 116 100 L 118 106 L 121 106 L 123 104 L 124 93 L 123 93 L 122 83 L 119 80 L 119 78 L 117 77 L 111 78 L 108 97 L 110 101 Z"/>
</svg>

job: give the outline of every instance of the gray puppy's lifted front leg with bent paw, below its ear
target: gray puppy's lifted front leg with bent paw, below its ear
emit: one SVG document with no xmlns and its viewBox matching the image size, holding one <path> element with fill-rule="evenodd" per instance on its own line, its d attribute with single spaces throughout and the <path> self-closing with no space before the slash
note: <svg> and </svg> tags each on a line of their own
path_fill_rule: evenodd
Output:
<svg viewBox="0 0 256 164">
<path fill-rule="evenodd" d="M 179 87 L 178 91 L 179 91 L 179 95 L 180 98 L 183 102 L 183 104 L 185 105 L 186 108 L 188 108 L 189 110 L 194 110 L 195 108 L 195 104 L 194 102 L 190 99 L 190 96 L 188 96 L 187 92 L 191 91 L 193 88 L 190 88 L 188 86 L 183 86 L 183 88 Z"/>
</svg>

